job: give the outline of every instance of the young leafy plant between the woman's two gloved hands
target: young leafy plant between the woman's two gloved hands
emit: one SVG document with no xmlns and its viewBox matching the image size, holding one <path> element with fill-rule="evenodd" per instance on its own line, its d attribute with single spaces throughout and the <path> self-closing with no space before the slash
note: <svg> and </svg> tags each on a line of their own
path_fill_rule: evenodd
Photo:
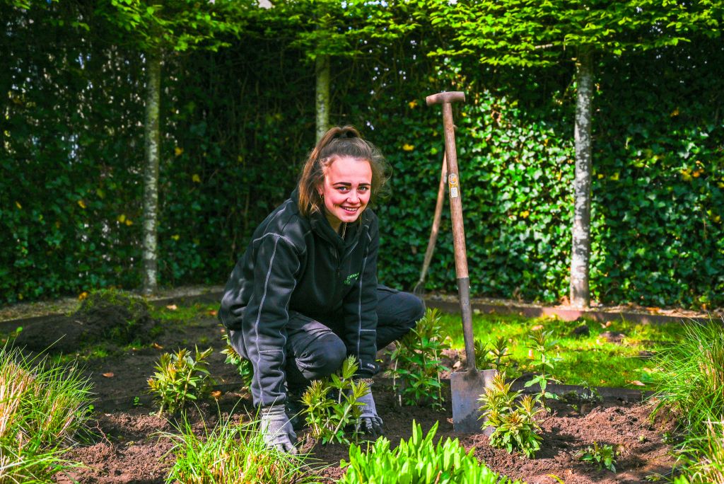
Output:
<svg viewBox="0 0 724 484">
<path fill-rule="evenodd" d="M 367 383 L 355 381 L 357 368 L 355 357 L 349 356 L 337 374 L 324 380 L 313 380 L 302 396 L 310 435 L 323 444 L 350 443 L 345 430 L 353 428 L 359 419 L 361 410 L 357 399 L 369 391 Z M 353 431 L 353 439 L 358 439 L 356 431 Z"/>
</svg>

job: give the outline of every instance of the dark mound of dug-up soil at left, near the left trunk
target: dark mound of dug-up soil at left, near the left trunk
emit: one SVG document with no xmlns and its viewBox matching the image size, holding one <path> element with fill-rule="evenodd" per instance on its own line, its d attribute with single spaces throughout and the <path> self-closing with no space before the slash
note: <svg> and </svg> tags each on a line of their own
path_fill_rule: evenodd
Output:
<svg viewBox="0 0 724 484">
<path fill-rule="evenodd" d="M 151 329 L 156 325 L 150 310 L 148 302 L 139 296 L 123 291 L 96 291 L 72 314 L 54 316 L 42 325 L 23 328 L 15 346 L 30 351 L 72 353 L 98 343 L 150 343 Z"/>
</svg>

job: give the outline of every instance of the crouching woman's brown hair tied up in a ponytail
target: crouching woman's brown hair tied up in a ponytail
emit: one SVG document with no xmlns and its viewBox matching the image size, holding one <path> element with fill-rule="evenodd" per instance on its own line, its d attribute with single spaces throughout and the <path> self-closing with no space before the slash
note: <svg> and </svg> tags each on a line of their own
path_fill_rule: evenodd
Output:
<svg viewBox="0 0 724 484">
<path fill-rule="evenodd" d="M 353 126 L 336 126 L 321 137 L 307 157 L 302 175 L 299 178 L 299 211 L 305 217 L 314 212 L 322 213 L 324 202 L 317 187 L 324 182 L 324 173 L 334 160 L 343 157 L 361 159 L 369 162 L 372 169 L 370 204 L 382 194 L 384 185 L 390 178 L 390 165 L 374 144 L 363 140 Z"/>
</svg>

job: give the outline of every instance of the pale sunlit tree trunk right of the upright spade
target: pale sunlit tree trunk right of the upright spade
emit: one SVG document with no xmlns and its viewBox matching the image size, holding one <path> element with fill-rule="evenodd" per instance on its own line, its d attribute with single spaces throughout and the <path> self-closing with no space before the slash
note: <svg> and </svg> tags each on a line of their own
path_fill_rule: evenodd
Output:
<svg viewBox="0 0 724 484">
<path fill-rule="evenodd" d="M 592 54 L 581 49 L 576 63 L 576 176 L 573 180 L 573 250 L 571 251 L 571 306 L 591 302 L 591 117 L 593 101 Z"/>
</svg>

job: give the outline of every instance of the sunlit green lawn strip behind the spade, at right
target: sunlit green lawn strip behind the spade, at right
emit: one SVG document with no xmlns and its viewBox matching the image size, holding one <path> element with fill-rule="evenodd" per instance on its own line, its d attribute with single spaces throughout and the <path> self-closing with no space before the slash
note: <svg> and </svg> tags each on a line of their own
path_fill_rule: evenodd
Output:
<svg viewBox="0 0 724 484">
<path fill-rule="evenodd" d="M 572 335 L 573 330 L 585 324 L 589 335 Z M 464 349 L 463 330 L 459 314 L 443 314 L 443 334 L 450 335 L 452 347 Z M 508 353 L 503 359 L 510 377 L 532 372 L 529 357 L 529 334 L 532 328 L 542 326 L 552 330 L 557 340 L 554 354 L 556 362 L 552 376 L 569 385 L 631 387 L 631 382 L 644 383 L 644 389 L 652 388 L 653 366 L 639 352 L 656 353 L 683 335 L 678 322 L 646 325 L 626 320 L 611 321 L 605 325 L 586 320 L 565 322 L 555 317 L 526 318 L 516 315 L 476 314 L 473 316 L 473 333 L 476 339 L 491 343 L 498 337 L 508 339 Z M 611 343 L 601 336 L 607 331 L 624 333 L 622 343 Z"/>
</svg>

